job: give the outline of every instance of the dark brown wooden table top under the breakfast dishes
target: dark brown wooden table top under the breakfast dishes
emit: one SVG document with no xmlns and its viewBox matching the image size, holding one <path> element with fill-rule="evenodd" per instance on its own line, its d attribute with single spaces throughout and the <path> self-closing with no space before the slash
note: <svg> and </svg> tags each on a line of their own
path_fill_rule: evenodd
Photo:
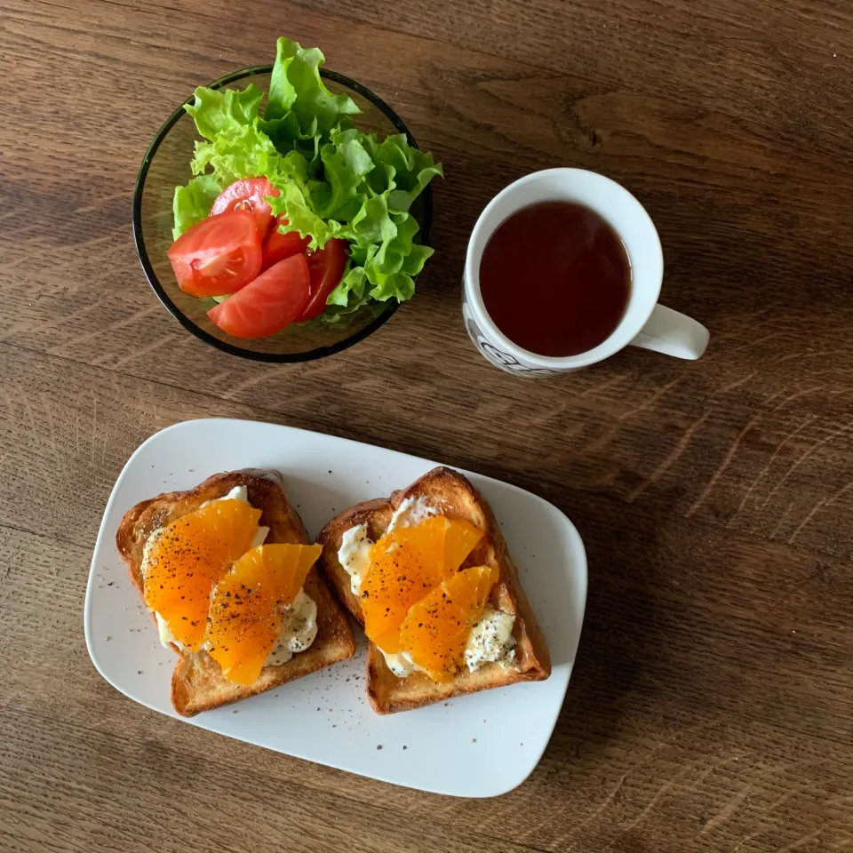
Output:
<svg viewBox="0 0 853 853">
<path fill-rule="evenodd" d="M 3 0 L 0 849 L 853 849 L 853 7 L 845 0 Z M 243 8 L 245 7 L 245 8 Z M 319 44 L 444 163 L 436 254 L 379 333 L 296 366 L 192 338 L 130 227 L 196 84 Z M 522 174 L 602 171 L 655 219 L 698 363 L 496 371 L 466 237 Z M 97 674 L 84 588 L 116 475 L 211 415 L 466 466 L 586 541 L 575 672 L 530 779 L 415 793 L 166 719 Z"/>
</svg>

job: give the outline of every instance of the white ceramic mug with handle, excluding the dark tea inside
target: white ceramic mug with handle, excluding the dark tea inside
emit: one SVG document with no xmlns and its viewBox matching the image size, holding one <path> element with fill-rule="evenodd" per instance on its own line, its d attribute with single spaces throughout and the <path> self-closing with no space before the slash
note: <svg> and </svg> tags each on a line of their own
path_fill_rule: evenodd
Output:
<svg viewBox="0 0 853 853">
<path fill-rule="evenodd" d="M 480 260 L 495 229 L 515 211 L 553 201 L 575 202 L 596 211 L 622 239 L 631 262 L 631 295 L 615 331 L 586 353 L 560 358 L 537 355 L 514 344 L 492 321 L 480 292 Z M 501 190 L 477 219 L 465 259 L 462 315 L 477 349 L 510 373 L 548 376 L 576 371 L 628 344 L 678 358 L 698 358 L 708 346 L 708 330 L 690 317 L 658 305 L 663 275 L 658 232 L 642 204 L 625 187 L 584 169 L 535 171 Z"/>
</svg>

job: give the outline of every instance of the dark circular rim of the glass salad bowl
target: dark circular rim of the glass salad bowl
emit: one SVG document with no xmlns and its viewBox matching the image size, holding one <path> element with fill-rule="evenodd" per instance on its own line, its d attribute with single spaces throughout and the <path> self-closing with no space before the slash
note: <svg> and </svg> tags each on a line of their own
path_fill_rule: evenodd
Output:
<svg viewBox="0 0 853 853">
<path fill-rule="evenodd" d="M 259 74 L 269 74 L 273 70 L 272 65 L 255 65 L 250 68 L 242 68 L 239 71 L 232 71 L 230 74 L 227 74 L 223 77 L 219 77 L 218 80 L 214 80 L 212 83 L 207 84 L 207 88 L 209 89 L 221 89 L 223 86 L 226 86 L 229 83 L 235 83 L 237 80 L 242 80 L 244 77 L 255 76 Z M 388 104 L 379 98 L 379 95 L 371 92 L 363 84 L 358 83 L 357 81 L 347 77 L 343 74 L 339 74 L 336 71 L 331 71 L 327 68 L 320 68 L 320 76 L 325 77 L 328 80 L 332 80 L 335 83 L 346 86 L 347 88 L 353 90 L 357 94 L 361 95 L 365 100 L 371 102 L 371 104 L 378 108 L 379 111 L 386 116 L 386 118 L 394 124 L 395 128 L 400 133 L 405 133 L 406 139 L 408 140 L 411 147 L 417 148 L 418 143 L 415 141 L 415 138 L 411 135 L 411 131 L 406 126 L 406 123 L 403 119 L 397 115 L 394 109 L 388 106 Z M 163 140 L 165 140 L 166 135 L 171 131 L 171 128 L 179 122 L 179 120 L 185 115 L 184 108 L 187 104 L 191 104 L 194 100 L 195 96 L 191 95 L 187 100 L 185 100 L 179 108 L 177 108 L 171 116 L 169 116 L 166 121 L 163 123 L 163 126 L 159 131 L 156 132 L 156 135 L 153 140 L 151 140 L 151 144 L 148 146 L 147 151 L 145 152 L 145 156 L 142 158 L 142 164 L 140 166 L 140 171 L 136 177 L 136 184 L 133 187 L 133 205 L 132 205 L 132 224 L 133 224 L 133 242 L 136 245 L 136 253 L 137 257 L 140 259 L 140 265 L 142 266 L 142 271 L 145 273 L 145 276 L 148 280 L 148 284 L 151 285 L 151 289 L 155 292 L 157 299 L 161 301 L 163 306 L 169 311 L 169 313 L 189 332 L 195 335 L 196 338 L 203 340 L 206 344 L 209 344 L 211 347 L 216 347 L 224 353 L 228 353 L 230 355 L 238 355 L 241 358 L 248 358 L 251 361 L 255 362 L 267 362 L 267 363 L 297 363 L 297 362 L 309 362 L 314 361 L 317 358 L 324 358 L 327 355 L 335 355 L 335 353 L 339 353 L 349 347 L 355 346 L 355 344 L 359 343 L 363 339 L 369 337 L 373 334 L 374 331 L 377 331 L 380 326 L 383 326 L 390 319 L 391 315 L 395 313 L 397 308 L 400 307 L 400 303 L 396 299 L 389 299 L 387 301 L 387 307 L 371 320 L 363 329 L 354 332 L 352 335 L 349 335 L 347 338 L 341 339 L 334 344 L 330 344 L 325 347 L 315 347 L 314 349 L 308 350 L 304 353 L 262 353 L 257 352 L 251 349 L 243 349 L 243 347 L 235 346 L 235 344 L 229 344 L 225 340 L 220 340 L 219 338 L 211 335 L 210 332 L 204 331 L 200 326 L 196 325 L 192 320 L 184 314 L 183 311 L 172 301 L 169 294 L 163 288 L 163 285 L 160 283 L 157 274 L 155 273 L 154 267 L 151 264 L 151 259 L 148 257 L 148 252 L 145 246 L 145 238 L 142 235 L 142 193 L 145 188 L 145 180 L 148 174 L 148 167 L 151 163 L 151 158 L 155 155 L 157 149 L 162 145 Z M 424 214 L 423 221 L 420 223 L 420 237 L 421 243 L 425 246 L 430 245 L 430 239 L 432 236 L 433 230 L 433 191 L 432 187 L 428 185 L 425 187 L 424 191 L 420 196 L 423 199 L 424 206 Z M 415 281 L 417 281 L 417 276 L 415 276 Z"/>
</svg>

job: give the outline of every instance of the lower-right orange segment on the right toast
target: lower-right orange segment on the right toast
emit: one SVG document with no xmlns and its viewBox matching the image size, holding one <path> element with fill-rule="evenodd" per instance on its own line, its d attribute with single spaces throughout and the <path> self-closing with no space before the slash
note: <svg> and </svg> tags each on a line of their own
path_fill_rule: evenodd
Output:
<svg viewBox="0 0 853 853">
<path fill-rule="evenodd" d="M 400 628 L 400 646 L 436 682 L 449 682 L 465 654 L 471 627 L 482 616 L 498 570 L 473 566 L 456 572 L 413 605 Z"/>
</svg>

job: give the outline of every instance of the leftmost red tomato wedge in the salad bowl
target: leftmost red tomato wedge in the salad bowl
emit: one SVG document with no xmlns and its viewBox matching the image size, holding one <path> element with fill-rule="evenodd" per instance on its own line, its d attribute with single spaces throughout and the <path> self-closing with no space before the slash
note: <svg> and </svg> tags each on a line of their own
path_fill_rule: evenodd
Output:
<svg viewBox="0 0 853 853">
<path fill-rule="evenodd" d="M 260 272 L 260 235 L 251 213 L 228 211 L 196 222 L 167 254 L 182 291 L 224 296 Z"/>
</svg>

